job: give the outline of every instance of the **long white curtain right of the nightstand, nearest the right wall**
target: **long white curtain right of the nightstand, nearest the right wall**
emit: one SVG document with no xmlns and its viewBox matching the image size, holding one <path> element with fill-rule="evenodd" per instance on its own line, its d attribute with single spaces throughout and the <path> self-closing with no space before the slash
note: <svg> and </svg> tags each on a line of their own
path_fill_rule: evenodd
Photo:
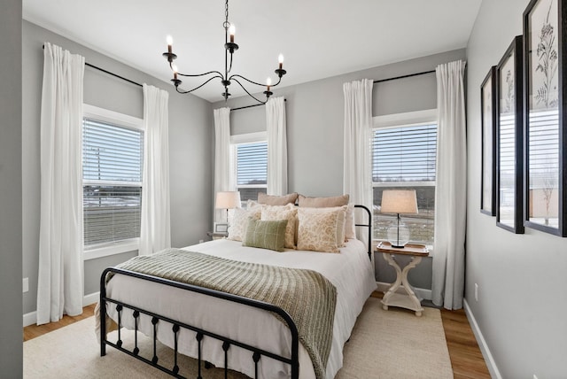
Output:
<svg viewBox="0 0 567 379">
<path fill-rule="evenodd" d="M 466 228 L 467 141 L 465 62 L 437 67 L 437 183 L 433 248 L 433 303 L 462 308 Z"/>
</svg>

